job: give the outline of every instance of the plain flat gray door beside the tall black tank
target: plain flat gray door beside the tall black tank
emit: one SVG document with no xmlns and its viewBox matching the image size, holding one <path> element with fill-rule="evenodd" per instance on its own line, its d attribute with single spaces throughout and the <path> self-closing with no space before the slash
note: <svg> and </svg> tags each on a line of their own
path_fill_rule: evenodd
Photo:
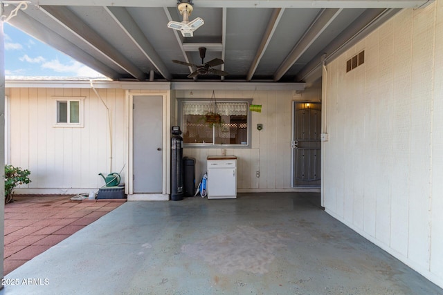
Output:
<svg viewBox="0 0 443 295">
<path fill-rule="evenodd" d="M 134 96 L 134 193 L 162 193 L 161 96 Z"/>
</svg>

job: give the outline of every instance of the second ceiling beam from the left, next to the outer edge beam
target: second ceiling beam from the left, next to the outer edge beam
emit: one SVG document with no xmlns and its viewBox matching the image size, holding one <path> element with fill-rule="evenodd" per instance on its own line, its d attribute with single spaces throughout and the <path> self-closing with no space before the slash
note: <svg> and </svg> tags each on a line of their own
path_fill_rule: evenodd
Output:
<svg viewBox="0 0 443 295">
<path fill-rule="evenodd" d="M 86 42 L 92 48 L 98 50 L 102 55 L 107 57 L 114 64 L 120 66 L 130 75 L 140 81 L 146 79 L 145 73 L 132 64 L 123 54 L 121 54 L 108 41 L 103 39 L 97 32 L 92 30 L 86 23 L 82 21 L 77 15 L 66 7 L 61 6 L 40 6 L 40 10 L 44 11 L 46 15 L 57 21 L 61 26 L 69 30 L 82 41 Z"/>
</svg>

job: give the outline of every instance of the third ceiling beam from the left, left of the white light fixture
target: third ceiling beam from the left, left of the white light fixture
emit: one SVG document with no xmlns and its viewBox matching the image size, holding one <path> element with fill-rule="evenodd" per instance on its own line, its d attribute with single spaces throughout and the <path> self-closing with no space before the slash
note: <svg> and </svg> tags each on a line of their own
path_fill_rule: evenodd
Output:
<svg viewBox="0 0 443 295">
<path fill-rule="evenodd" d="M 151 61 L 156 67 L 159 73 L 167 80 L 172 79 L 172 75 L 169 72 L 166 65 L 161 60 L 159 54 L 154 47 L 147 40 L 145 34 L 141 28 L 137 25 L 134 19 L 129 15 L 129 12 L 124 7 L 104 7 L 105 11 L 111 15 L 111 17 L 118 23 L 118 26 L 132 39 L 134 44 L 141 50 L 143 55 Z"/>
</svg>

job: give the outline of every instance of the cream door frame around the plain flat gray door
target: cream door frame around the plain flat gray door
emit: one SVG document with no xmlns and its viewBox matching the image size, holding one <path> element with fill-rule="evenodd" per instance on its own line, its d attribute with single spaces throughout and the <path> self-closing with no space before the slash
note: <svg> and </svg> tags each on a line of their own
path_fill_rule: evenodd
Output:
<svg viewBox="0 0 443 295">
<path fill-rule="evenodd" d="M 134 96 L 162 97 L 162 163 L 163 184 L 161 193 L 134 193 Z M 140 200 L 169 200 L 170 198 L 170 129 L 171 129 L 171 95 L 170 91 L 127 91 L 127 199 Z"/>
</svg>

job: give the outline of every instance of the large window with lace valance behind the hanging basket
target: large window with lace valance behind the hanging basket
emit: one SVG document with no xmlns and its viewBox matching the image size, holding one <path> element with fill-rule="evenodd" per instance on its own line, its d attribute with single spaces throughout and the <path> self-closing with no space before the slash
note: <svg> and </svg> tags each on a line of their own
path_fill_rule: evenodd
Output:
<svg viewBox="0 0 443 295">
<path fill-rule="evenodd" d="M 210 109 L 209 100 L 184 101 L 179 99 L 179 122 L 183 132 L 183 143 L 190 146 L 249 145 L 249 102 L 217 101 L 221 122 L 206 122 Z"/>
</svg>

